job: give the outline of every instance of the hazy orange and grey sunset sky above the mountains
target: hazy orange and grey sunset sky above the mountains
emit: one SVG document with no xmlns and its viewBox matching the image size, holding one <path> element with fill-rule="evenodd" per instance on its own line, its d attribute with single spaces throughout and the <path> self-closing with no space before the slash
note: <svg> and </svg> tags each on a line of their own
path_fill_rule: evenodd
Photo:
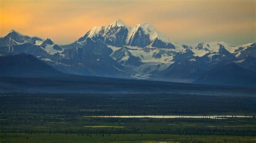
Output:
<svg viewBox="0 0 256 143">
<path fill-rule="evenodd" d="M 256 41 L 255 0 L 0 0 L 0 36 L 19 33 L 65 45 L 116 19 L 150 23 L 173 42 Z"/>
</svg>

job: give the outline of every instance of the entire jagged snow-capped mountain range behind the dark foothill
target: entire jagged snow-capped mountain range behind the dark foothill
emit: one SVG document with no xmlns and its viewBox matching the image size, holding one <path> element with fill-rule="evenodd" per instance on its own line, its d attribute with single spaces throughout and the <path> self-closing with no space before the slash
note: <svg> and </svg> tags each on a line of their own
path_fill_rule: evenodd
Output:
<svg viewBox="0 0 256 143">
<path fill-rule="evenodd" d="M 118 19 L 108 26 L 93 27 L 69 45 L 11 30 L 0 38 L 0 46 L 1 56 L 31 54 L 53 70 L 68 74 L 255 85 L 256 42 L 239 46 L 218 41 L 178 44 L 148 23 L 132 27 Z"/>
</svg>

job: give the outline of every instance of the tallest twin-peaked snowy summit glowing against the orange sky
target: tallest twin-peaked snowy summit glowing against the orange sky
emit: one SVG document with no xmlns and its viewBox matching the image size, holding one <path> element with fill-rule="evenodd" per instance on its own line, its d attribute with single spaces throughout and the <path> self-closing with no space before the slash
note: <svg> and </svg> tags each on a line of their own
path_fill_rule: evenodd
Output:
<svg viewBox="0 0 256 143">
<path fill-rule="evenodd" d="M 122 47 L 158 47 L 158 48 L 183 48 L 180 45 L 172 44 L 154 26 L 148 23 L 127 26 L 122 20 L 115 20 L 108 26 L 95 26 L 84 37 L 79 38 L 73 44 L 64 45 L 64 48 L 83 47 L 86 38 L 94 41 L 102 40 L 107 45 Z M 184 49 L 184 48 L 183 48 Z"/>
</svg>

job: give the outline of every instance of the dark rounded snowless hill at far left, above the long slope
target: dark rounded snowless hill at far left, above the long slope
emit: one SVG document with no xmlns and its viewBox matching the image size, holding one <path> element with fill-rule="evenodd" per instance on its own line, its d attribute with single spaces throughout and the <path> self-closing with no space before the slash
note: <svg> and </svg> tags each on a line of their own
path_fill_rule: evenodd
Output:
<svg viewBox="0 0 256 143">
<path fill-rule="evenodd" d="M 0 76 L 8 77 L 45 77 L 64 75 L 33 55 L 18 54 L 0 58 Z"/>
</svg>

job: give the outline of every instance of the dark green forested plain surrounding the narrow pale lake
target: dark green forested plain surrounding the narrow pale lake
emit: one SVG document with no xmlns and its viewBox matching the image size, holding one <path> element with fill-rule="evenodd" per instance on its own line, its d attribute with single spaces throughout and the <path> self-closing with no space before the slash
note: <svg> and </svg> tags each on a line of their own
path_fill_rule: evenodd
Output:
<svg viewBox="0 0 256 143">
<path fill-rule="evenodd" d="M 0 142 L 255 142 L 256 118 L 96 118 L 110 115 L 255 116 L 255 97 L 0 95 Z"/>
</svg>

